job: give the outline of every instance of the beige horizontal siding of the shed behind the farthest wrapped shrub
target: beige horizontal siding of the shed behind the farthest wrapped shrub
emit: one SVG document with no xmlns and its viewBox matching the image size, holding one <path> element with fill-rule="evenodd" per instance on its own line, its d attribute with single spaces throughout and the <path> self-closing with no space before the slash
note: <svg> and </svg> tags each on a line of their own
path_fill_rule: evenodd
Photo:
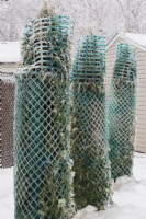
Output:
<svg viewBox="0 0 146 219">
<path fill-rule="evenodd" d="M 126 43 L 117 38 L 106 51 L 106 99 L 110 92 L 110 81 L 116 58 L 116 46 Z M 137 106 L 136 106 L 136 139 L 135 150 L 146 152 L 146 53 L 136 48 L 137 60 Z"/>
</svg>

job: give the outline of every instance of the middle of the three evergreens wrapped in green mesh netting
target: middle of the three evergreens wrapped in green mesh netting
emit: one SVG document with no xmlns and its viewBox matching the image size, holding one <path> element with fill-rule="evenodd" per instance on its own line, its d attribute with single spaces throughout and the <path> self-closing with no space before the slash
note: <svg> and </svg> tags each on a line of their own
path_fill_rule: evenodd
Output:
<svg viewBox="0 0 146 219">
<path fill-rule="evenodd" d="M 105 125 L 105 38 L 88 35 L 77 48 L 70 74 L 70 142 L 77 208 L 104 209 L 111 200 Z"/>
</svg>

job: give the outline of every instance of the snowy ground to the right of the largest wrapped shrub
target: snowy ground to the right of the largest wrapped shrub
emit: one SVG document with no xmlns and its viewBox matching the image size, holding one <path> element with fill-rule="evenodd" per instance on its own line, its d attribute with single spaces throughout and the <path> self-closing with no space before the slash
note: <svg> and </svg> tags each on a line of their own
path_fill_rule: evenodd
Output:
<svg viewBox="0 0 146 219">
<path fill-rule="evenodd" d="M 114 185 L 113 206 L 97 211 L 92 206 L 77 212 L 74 219 L 146 219 L 146 155 L 135 153 L 134 176 L 121 177 Z"/>
</svg>

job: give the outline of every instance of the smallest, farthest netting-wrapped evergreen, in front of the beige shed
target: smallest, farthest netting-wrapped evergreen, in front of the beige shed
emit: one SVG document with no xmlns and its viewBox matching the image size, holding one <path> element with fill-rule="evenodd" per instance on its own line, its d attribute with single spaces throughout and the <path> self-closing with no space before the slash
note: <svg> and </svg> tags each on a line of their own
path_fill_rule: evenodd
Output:
<svg viewBox="0 0 146 219">
<path fill-rule="evenodd" d="M 109 97 L 109 145 L 112 177 L 132 175 L 135 139 L 135 49 L 119 44 Z"/>
</svg>

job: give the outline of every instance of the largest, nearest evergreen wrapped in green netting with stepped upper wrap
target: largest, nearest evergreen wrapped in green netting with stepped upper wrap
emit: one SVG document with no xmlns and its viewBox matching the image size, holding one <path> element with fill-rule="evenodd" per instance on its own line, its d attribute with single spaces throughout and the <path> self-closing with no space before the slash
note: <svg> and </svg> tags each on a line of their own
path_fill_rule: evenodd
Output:
<svg viewBox="0 0 146 219">
<path fill-rule="evenodd" d="M 66 81 L 71 22 L 33 22 L 33 61 L 15 74 L 15 218 L 71 219 L 72 160 L 67 143 Z"/>
</svg>

